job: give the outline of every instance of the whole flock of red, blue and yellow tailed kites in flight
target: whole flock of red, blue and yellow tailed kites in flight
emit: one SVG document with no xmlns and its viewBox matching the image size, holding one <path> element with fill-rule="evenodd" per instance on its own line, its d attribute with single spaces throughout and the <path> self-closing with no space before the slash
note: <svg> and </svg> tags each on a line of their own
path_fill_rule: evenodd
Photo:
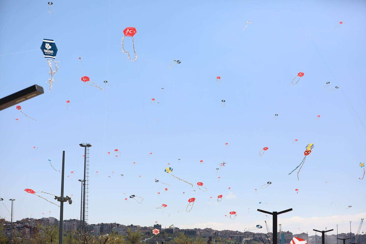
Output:
<svg viewBox="0 0 366 244">
<path fill-rule="evenodd" d="M 53 3 L 52 2 L 48 2 L 48 12 L 49 13 L 53 13 L 54 12 L 54 9 L 53 9 Z M 244 29 L 243 30 L 246 30 L 246 28 L 249 26 L 249 24 L 250 24 L 251 22 L 250 21 L 247 21 L 247 25 L 244 27 Z M 341 24 L 342 24 L 343 22 L 339 22 L 339 25 L 337 25 L 335 28 L 337 28 L 338 26 L 340 26 Z M 137 54 L 136 54 L 136 50 L 135 50 L 135 46 L 134 46 L 134 35 L 137 33 L 137 30 L 136 30 L 136 28 L 135 27 L 126 27 L 126 29 L 124 29 L 123 30 L 123 34 L 124 34 L 124 36 L 122 37 L 122 42 L 121 42 L 121 46 L 122 46 L 122 52 L 124 53 L 124 54 L 126 54 L 127 55 L 127 58 L 128 59 L 130 59 L 131 61 L 136 61 L 137 60 Z M 124 38 L 125 37 L 131 37 L 131 40 L 132 40 L 132 48 L 133 48 L 133 52 L 134 52 L 134 58 L 133 59 L 131 59 L 131 56 L 130 56 L 130 53 L 128 52 L 128 51 L 126 51 L 126 50 L 124 50 Z M 49 92 L 51 92 L 51 89 L 52 89 L 52 84 L 53 84 L 53 82 L 55 82 L 55 80 L 54 80 L 54 75 L 58 72 L 58 70 L 59 70 L 59 66 L 57 65 L 57 63 L 59 63 L 58 61 L 56 61 L 56 54 L 57 54 L 57 47 L 56 47 L 56 43 L 55 43 L 55 41 L 54 40 L 51 40 L 51 39 L 43 39 L 43 42 L 42 42 L 42 45 L 41 45 L 41 50 L 42 50 L 42 52 L 43 52 L 43 55 L 44 55 L 44 57 L 45 58 L 47 58 L 47 63 L 48 63 L 48 66 L 49 66 L 49 71 L 48 71 L 48 73 L 49 73 L 49 76 L 50 76 L 50 78 L 48 79 L 48 81 L 47 81 L 47 83 L 49 83 Z M 79 57 L 79 60 L 81 61 L 81 57 Z M 168 64 L 168 68 L 169 69 L 171 69 L 171 68 L 173 68 L 175 65 L 177 65 L 177 64 L 180 64 L 181 62 L 180 62 L 180 60 L 173 60 L 171 63 L 169 63 Z M 82 63 L 82 61 L 81 61 L 81 64 L 83 65 L 83 63 Z M 83 65 L 84 66 L 84 65 Z M 296 85 L 299 81 L 300 81 L 300 79 L 302 78 L 304 76 L 304 73 L 303 72 L 299 72 L 292 80 L 291 80 L 291 85 Z M 94 82 L 92 82 L 91 80 L 90 80 L 90 78 L 88 77 L 88 76 L 83 76 L 83 77 L 81 77 L 81 81 L 82 82 L 84 82 L 85 84 L 87 84 L 87 85 L 89 85 L 89 86 L 93 86 L 93 87 L 97 87 L 98 89 L 101 89 L 101 90 L 104 90 L 101 86 L 99 86 L 99 85 L 97 85 L 96 83 L 94 83 Z M 221 76 L 217 76 L 216 77 L 216 82 L 217 82 L 217 84 L 218 85 L 220 85 L 221 84 Z M 105 84 L 105 86 L 106 87 L 109 87 L 109 84 L 108 84 L 108 81 L 107 80 L 104 80 L 104 84 Z M 330 82 L 328 81 L 328 82 L 326 82 L 326 85 L 324 86 L 324 89 L 326 89 L 328 86 L 329 86 L 329 84 L 330 84 Z M 335 86 L 334 88 L 332 88 L 332 89 L 330 89 L 330 90 L 328 90 L 328 92 L 333 92 L 333 91 L 335 91 L 336 89 L 338 89 L 339 87 L 338 86 Z M 164 90 L 164 88 L 161 88 L 162 90 Z M 155 98 L 152 98 L 151 99 L 151 104 L 154 104 L 155 103 Z M 66 109 L 68 109 L 68 106 L 70 105 L 70 100 L 67 100 L 66 101 Z M 222 107 L 223 106 L 225 106 L 225 100 L 221 100 L 221 104 L 220 104 Z M 21 109 L 22 109 L 22 107 L 21 106 L 16 106 L 16 109 L 18 109 L 21 113 L 23 113 L 23 115 L 25 115 L 25 116 L 27 116 L 28 118 L 30 118 L 30 119 L 32 119 L 32 120 L 35 120 L 35 119 L 33 119 L 32 117 L 30 117 L 30 116 L 28 116 L 28 115 L 26 115 Z M 275 114 L 275 116 L 273 117 L 273 120 L 277 120 L 277 117 L 278 117 L 279 115 L 278 114 Z M 315 119 L 314 120 L 318 120 L 318 119 L 320 119 L 320 115 L 318 115 L 317 117 L 315 117 Z M 19 120 L 19 119 L 15 119 L 15 120 Z M 37 120 L 35 120 L 35 121 L 37 121 Z M 297 142 L 298 141 L 298 139 L 295 139 L 294 140 L 294 142 L 292 142 L 292 143 L 295 143 L 295 142 Z M 225 146 L 226 147 L 229 147 L 229 144 L 228 143 L 225 143 Z M 35 147 L 33 147 L 34 149 L 36 149 Z M 294 172 L 296 169 L 298 169 L 299 168 L 299 170 L 298 170 L 298 172 L 297 172 L 297 178 L 298 178 L 298 180 L 299 180 L 299 173 L 300 173 L 300 170 L 302 169 L 302 167 L 303 167 L 303 165 L 304 165 L 304 163 L 305 163 L 305 160 L 306 160 L 306 157 L 308 156 L 308 155 L 310 155 L 310 153 L 311 153 L 311 150 L 314 148 L 314 144 L 313 143 L 309 143 L 307 146 L 306 146 L 306 150 L 304 151 L 304 158 L 302 159 L 302 161 L 300 162 L 300 164 L 298 165 L 298 166 L 296 166 L 296 168 L 294 169 L 294 170 L 292 170 L 289 174 L 291 174 L 292 172 Z M 263 156 L 264 155 L 264 153 L 266 152 L 268 150 L 268 147 L 264 147 L 262 150 L 260 150 L 259 151 L 259 156 Z M 121 155 L 121 153 L 120 153 L 120 151 L 118 150 L 118 149 L 115 149 L 114 150 L 115 151 L 115 153 L 116 153 L 116 155 L 115 155 L 115 158 L 117 158 L 119 155 Z M 108 152 L 108 155 L 110 155 L 110 152 Z M 152 155 L 152 153 L 149 153 L 149 155 Z M 84 157 L 85 155 L 83 155 L 83 157 Z M 48 159 L 48 161 L 49 161 L 49 164 L 51 165 L 51 167 L 52 167 L 52 169 L 54 169 L 54 170 L 56 170 L 56 171 L 59 171 L 59 170 L 57 170 L 57 169 L 55 169 L 55 167 L 53 167 L 53 165 L 51 164 L 51 159 Z M 178 159 L 178 162 L 180 162 L 180 159 Z M 200 160 L 200 163 L 202 164 L 203 163 L 203 160 Z M 133 165 L 135 165 L 136 164 L 136 162 L 133 162 Z M 216 173 L 216 176 L 217 176 L 217 174 L 219 173 L 219 170 L 221 169 L 221 168 L 223 168 L 224 166 L 225 166 L 225 164 L 227 164 L 226 162 L 223 162 L 223 163 L 220 163 L 219 165 L 220 165 L 220 168 L 216 168 L 216 170 L 217 170 L 217 173 Z M 365 168 L 364 168 L 364 166 L 365 166 L 365 164 L 363 163 L 363 162 L 361 162 L 360 164 L 359 164 L 359 166 L 363 169 L 363 176 L 362 176 L 362 178 L 359 178 L 360 180 L 363 180 L 363 178 L 364 178 L 364 176 L 365 176 Z M 190 182 L 188 182 L 188 181 L 186 181 L 186 180 L 183 180 L 183 179 L 181 179 L 180 177 L 178 177 L 178 176 L 175 176 L 172 172 L 173 172 L 173 168 L 171 168 L 171 167 L 167 167 L 167 168 L 165 168 L 164 169 L 164 172 L 166 172 L 166 173 L 168 173 L 168 174 L 170 174 L 172 177 L 174 177 L 174 178 L 176 178 L 176 179 L 178 179 L 178 180 L 180 180 L 180 181 L 183 181 L 184 183 L 186 183 L 186 184 L 188 184 L 188 185 L 191 185 L 191 187 L 193 187 L 193 184 L 192 183 L 190 183 Z M 70 172 L 71 174 L 74 174 L 74 171 L 71 171 Z M 98 171 L 96 171 L 96 174 L 98 174 Z M 113 174 L 114 174 L 114 172 L 112 172 L 112 176 L 113 176 Z M 121 177 L 123 178 L 123 174 L 121 174 Z M 67 176 L 67 177 L 70 177 L 70 176 Z M 108 177 L 111 177 L 111 176 L 108 176 Z M 139 176 L 139 177 L 141 177 L 141 176 Z M 220 176 L 219 177 L 217 177 L 217 179 L 218 179 L 218 181 L 220 180 Z M 157 180 L 157 179 L 155 179 L 155 182 L 156 183 L 159 183 L 160 181 L 159 180 Z M 166 185 L 169 185 L 169 184 L 167 184 L 167 183 L 163 183 L 163 182 L 160 182 L 161 184 L 166 184 Z M 268 187 L 269 185 L 271 185 L 272 184 L 272 182 L 270 182 L 270 181 L 268 181 L 266 184 L 264 184 L 264 185 L 262 185 L 261 186 L 261 188 L 266 188 L 266 187 Z M 169 185 L 170 186 L 170 185 Z M 197 182 L 197 187 L 198 187 L 198 189 L 199 190 L 201 190 L 201 191 L 203 191 L 203 192 L 207 192 L 208 191 L 208 189 L 204 186 L 204 184 L 203 184 L 203 182 Z M 230 189 L 230 187 L 228 188 L 228 189 Z M 257 192 L 257 189 L 254 189 L 255 190 L 255 192 Z M 50 201 L 50 200 L 48 200 L 48 199 L 46 199 L 45 197 L 42 197 L 42 196 L 40 196 L 40 195 L 38 195 L 37 193 L 42 193 L 42 194 L 48 194 L 48 195 L 52 195 L 52 196 L 54 196 L 53 194 L 51 194 L 51 193 L 48 193 L 48 192 L 44 192 L 44 191 L 38 191 L 38 192 L 36 192 L 36 191 L 34 191 L 33 189 L 25 189 L 24 191 L 26 191 L 27 193 L 29 193 L 29 194 L 32 194 L 32 195 L 35 195 L 35 196 L 38 196 L 38 197 L 40 197 L 40 198 L 42 198 L 42 199 L 44 199 L 44 200 L 46 200 L 47 202 L 50 202 L 50 203 L 52 203 L 52 204 L 55 204 L 56 206 L 59 206 L 59 205 L 57 205 L 56 203 L 54 203 L 54 202 L 52 202 L 52 201 Z M 168 191 L 168 188 L 165 188 L 165 191 Z M 195 190 L 194 190 L 195 191 Z M 299 189 L 295 189 L 295 192 L 296 192 L 296 194 L 298 194 L 299 193 Z M 123 194 L 125 194 L 125 193 L 123 193 Z M 160 192 L 158 192 L 157 193 L 158 195 L 160 194 Z M 183 192 L 183 194 L 185 194 L 185 192 Z M 142 198 L 142 196 L 137 196 L 137 195 L 130 195 L 129 196 L 129 198 L 130 199 L 134 199 L 137 203 L 142 203 L 143 202 L 143 198 Z M 208 201 L 210 201 L 212 199 L 212 196 L 210 196 L 210 198 L 209 198 L 209 200 Z M 0 199 L 0 200 L 3 200 L 3 199 Z M 128 198 L 124 198 L 124 200 L 128 203 Z M 188 212 L 190 212 L 192 209 L 193 209 L 193 206 L 194 206 L 194 203 L 195 203 L 195 198 L 189 198 L 188 200 L 187 200 L 187 202 L 188 202 L 188 204 L 187 204 L 187 206 L 186 206 L 186 212 L 188 213 Z M 217 202 L 221 202 L 223 200 L 223 195 L 218 195 L 217 196 Z M 265 203 L 265 202 L 259 202 L 259 204 L 262 204 L 262 203 L 264 203 L 264 204 L 267 204 L 267 203 Z M 4 204 L 4 203 L 3 203 Z M 5 206 L 5 205 L 4 205 Z M 6 207 L 6 206 L 5 206 Z M 161 206 L 158 206 L 158 207 L 156 207 L 156 209 L 164 209 L 164 208 L 166 208 L 166 207 L 168 207 L 168 205 L 167 204 L 162 204 Z M 351 208 L 352 206 L 348 206 L 346 209 L 349 209 L 349 208 Z M 250 208 L 249 208 L 250 209 Z M 248 213 L 249 213 L 249 209 L 248 209 Z M 179 212 L 179 211 L 178 211 Z M 44 214 L 44 213 L 43 213 Z M 230 219 L 232 219 L 232 220 L 234 220 L 235 218 L 236 218 L 236 216 L 237 216 L 238 214 L 236 213 L 236 211 L 230 211 L 229 213 L 228 213 L 228 215 L 225 215 L 225 217 L 228 217 L 228 218 L 230 218 Z M 170 216 L 170 214 L 169 214 L 169 216 Z M 266 216 L 266 217 L 268 217 L 268 216 Z M 156 221 L 156 223 L 157 223 L 157 221 Z M 173 225 L 172 225 L 173 226 Z M 170 226 L 169 226 L 170 227 Z M 254 226 L 254 227 L 251 227 L 251 228 L 246 228 L 245 229 L 245 231 L 250 231 L 250 230 L 255 230 L 255 229 L 261 229 L 262 228 L 262 226 L 261 225 L 256 225 L 256 226 Z M 157 234 L 159 234 L 159 230 L 158 229 L 153 229 L 152 230 L 152 234 L 153 234 L 153 236 L 154 235 L 157 235 Z M 152 236 L 152 237 L 153 237 Z M 149 239 L 151 239 L 152 237 L 150 237 L 150 238 L 147 238 L 147 239 L 145 239 L 145 241 L 146 240 L 149 240 Z M 294 237 L 294 238 L 297 238 L 297 237 Z M 298 239 L 297 238 L 297 240 L 292 240 L 293 242 L 292 242 L 292 244 L 295 244 L 295 243 L 302 243 L 302 241 L 304 241 L 304 240 L 302 240 L 302 239 Z"/>
</svg>

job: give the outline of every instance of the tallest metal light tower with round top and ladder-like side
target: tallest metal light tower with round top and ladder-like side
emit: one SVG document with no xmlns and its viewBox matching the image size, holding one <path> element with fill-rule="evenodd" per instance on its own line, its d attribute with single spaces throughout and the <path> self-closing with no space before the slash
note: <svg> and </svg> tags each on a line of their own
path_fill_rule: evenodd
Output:
<svg viewBox="0 0 366 244">
<path fill-rule="evenodd" d="M 89 147 L 90 143 L 80 143 L 84 147 L 84 187 L 83 187 L 83 216 L 81 233 L 85 233 L 85 224 L 88 221 L 88 199 L 89 199 Z"/>
</svg>

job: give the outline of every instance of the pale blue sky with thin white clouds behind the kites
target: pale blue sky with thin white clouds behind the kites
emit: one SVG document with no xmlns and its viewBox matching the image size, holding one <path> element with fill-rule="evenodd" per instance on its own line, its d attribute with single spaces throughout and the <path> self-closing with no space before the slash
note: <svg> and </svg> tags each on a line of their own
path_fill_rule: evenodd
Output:
<svg viewBox="0 0 366 244">
<path fill-rule="evenodd" d="M 64 218 L 80 216 L 83 142 L 92 144 L 90 223 L 243 230 L 265 220 L 272 225 L 257 208 L 292 207 L 279 218 L 285 230 L 339 224 L 347 232 L 348 221 L 356 229 L 365 217 L 365 179 L 358 179 L 366 160 L 364 1 L 55 0 L 53 14 L 41 1 L 0 4 L 0 97 L 34 84 L 45 89 L 20 104 L 37 122 L 15 106 L 0 113 L 0 197 L 16 199 L 15 219 L 49 211 L 59 218 L 58 207 L 23 189 L 59 194 L 61 175 L 48 159 L 59 169 L 63 150 L 72 178 L 65 179 L 65 193 L 74 200 Z M 121 53 L 129 26 L 137 29 L 136 62 Z M 60 61 L 51 93 L 43 38 L 55 40 Z M 131 52 L 131 38 L 124 42 Z M 181 64 L 168 69 L 172 60 Z M 292 86 L 298 72 L 305 75 Z M 85 75 L 110 87 L 87 86 Z M 314 149 L 298 181 L 296 171 L 288 173 L 309 143 Z M 259 157 L 263 147 L 269 149 Z M 194 187 L 165 173 L 168 166 Z M 168 192 L 154 179 L 170 184 Z M 201 192 L 198 181 L 209 191 Z M 131 194 L 143 203 L 125 202 Z M 155 209 L 163 203 L 168 207 Z M 238 213 L 235 220 L 224 217 L 229 211 Z M 1 205 L 0 215 L 10 219 Z"/>
</svg>

